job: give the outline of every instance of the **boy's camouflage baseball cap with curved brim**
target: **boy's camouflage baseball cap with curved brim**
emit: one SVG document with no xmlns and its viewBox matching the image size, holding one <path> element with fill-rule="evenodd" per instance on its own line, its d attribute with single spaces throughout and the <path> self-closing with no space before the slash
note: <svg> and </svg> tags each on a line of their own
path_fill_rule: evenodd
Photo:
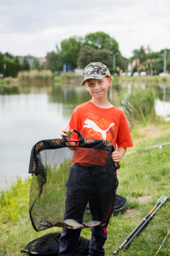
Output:
<svg viewBox="0 0 170 256">
<path fill-rule="evenodd" d="M 82 85 L 85 84 L 87 79 L 93 78 L 100 80 L 108 75 L 111 76 L 106 65 L 102 64 L 102 62 L 91 62 L 91 64 L 88 64 L 88 66 L 83 70 L 84 81 L 82 82 Z"/>
</svg>

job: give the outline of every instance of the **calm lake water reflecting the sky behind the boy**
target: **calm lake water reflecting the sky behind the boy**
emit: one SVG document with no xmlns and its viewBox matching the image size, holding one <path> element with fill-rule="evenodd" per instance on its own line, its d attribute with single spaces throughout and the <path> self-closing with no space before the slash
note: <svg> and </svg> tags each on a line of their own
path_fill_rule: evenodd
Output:
<svg viewBox="0 0 170 256">
<path fill-rule="evenodd" d="M 116 102 L 113 91 L 108 98 Z M 39 140 L 60 138 L 74 108 L 90 99 L 81 85 L 0 87 L 0 189 L 10 186 L 17 175 L 28 177 L 32 146 Z M 170 93 L 164 85 L 157 91 L 156 112 L 170 115 Z"/>
</svg>

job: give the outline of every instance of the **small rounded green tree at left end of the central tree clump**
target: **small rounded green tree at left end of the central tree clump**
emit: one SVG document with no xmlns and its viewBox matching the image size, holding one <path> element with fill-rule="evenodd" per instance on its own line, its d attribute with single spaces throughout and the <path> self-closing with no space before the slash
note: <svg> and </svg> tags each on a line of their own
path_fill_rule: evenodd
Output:
<svg viewBox="0 0 170 256">
<path fill-rule="evenodd" d="M 49 69 L 52 72 L 62 70 L 61 57 L 59 53 L 55 53 L 54 51 L 48 52 L 45 58 L 45 69 Z"/>
</svg>

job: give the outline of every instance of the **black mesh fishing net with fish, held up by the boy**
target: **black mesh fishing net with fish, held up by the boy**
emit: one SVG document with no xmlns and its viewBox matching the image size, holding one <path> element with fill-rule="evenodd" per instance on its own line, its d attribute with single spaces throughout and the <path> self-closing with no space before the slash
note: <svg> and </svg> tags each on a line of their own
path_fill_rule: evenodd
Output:
<svg viewBox="0 0 170 256">
<path fill-rule="evenodd" d="M 114 147 L 74 131 L 77 146 L 68 146 L 63 138 L 42 140 L 32 148 L 29 213 L 36 231 L 106 227 L 113 214 L 119 168 L 111 157 Z"/>
</svg>

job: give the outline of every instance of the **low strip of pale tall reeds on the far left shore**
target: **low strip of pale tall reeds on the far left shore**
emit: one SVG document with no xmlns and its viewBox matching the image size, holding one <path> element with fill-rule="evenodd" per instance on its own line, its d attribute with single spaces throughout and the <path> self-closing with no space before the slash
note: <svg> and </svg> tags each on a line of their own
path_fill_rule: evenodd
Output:
<svg viewBox="0 0 170 256">
<path fill-rule="evenodd" d="M 53 74 L 51 70 L 20 71 L 17 77 L 19 81 L 25 81 L 27 83 L 34 83 L 34 82 L 48 83 L 53 81 Z"/>
</svg>

